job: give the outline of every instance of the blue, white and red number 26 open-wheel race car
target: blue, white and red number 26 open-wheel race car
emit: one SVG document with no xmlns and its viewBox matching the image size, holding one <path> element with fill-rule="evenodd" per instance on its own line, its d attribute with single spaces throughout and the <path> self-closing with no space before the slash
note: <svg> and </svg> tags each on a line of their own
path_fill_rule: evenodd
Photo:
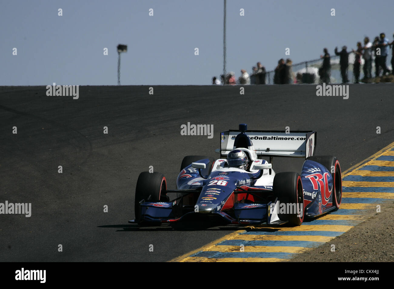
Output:
<svg viewBox="0 0 394 289">
<path fill-rule="evenodd" d="M 160 225 L 193 216 L 237 225 L 299 226 L 304 217 L 338 210 L 342 200 L 339 161 L 314 156 L 315 150 L 314 131 L 247 131 L 242 123 L 238 130 L 221 132 L 220 149 L 215 150 L 219 159 L 185 156 L 176 189 L 167 188 L 162 173 L 142 172 L 136 218 L 129 223 Z M 301 175 L 275 173 L 275 156 L 305 158 Z M 177 197 L 170 200 L 168 193 Z"/>
</svg>

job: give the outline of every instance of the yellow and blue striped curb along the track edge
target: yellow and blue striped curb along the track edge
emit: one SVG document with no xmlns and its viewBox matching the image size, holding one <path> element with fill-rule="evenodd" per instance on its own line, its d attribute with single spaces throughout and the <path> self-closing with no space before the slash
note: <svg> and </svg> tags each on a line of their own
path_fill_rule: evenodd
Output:
<svg viewBox="0 0 394 289">
<path fill-rule="evenodd" d="M 249 226 L 171 261 L 288 261 L 353 228 L 364 221 L 365 210 L 387 199 L 394 199 L 394 142 L 342 173 L 338 211 L 298 227 Z"/>
</svg>

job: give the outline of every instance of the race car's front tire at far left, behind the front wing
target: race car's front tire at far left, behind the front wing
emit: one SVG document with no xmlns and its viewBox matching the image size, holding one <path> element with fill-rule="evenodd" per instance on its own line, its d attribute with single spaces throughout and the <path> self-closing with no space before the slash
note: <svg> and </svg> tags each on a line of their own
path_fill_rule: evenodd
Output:
<svg viewBox="0 0 394 289">
<path fill-rule="evenodd" d="M 136 221 L 139 221 L 139 202 L 141 200 L 152 202 L 169 201 L 165 190 L 167 190 L 167 180 L 162 173 L 149 173 L 144 171 L 139 174 L 136 186 L 136 195 L 134 199 L 134 212 Z"/>
</svg>

